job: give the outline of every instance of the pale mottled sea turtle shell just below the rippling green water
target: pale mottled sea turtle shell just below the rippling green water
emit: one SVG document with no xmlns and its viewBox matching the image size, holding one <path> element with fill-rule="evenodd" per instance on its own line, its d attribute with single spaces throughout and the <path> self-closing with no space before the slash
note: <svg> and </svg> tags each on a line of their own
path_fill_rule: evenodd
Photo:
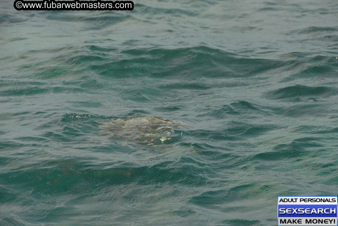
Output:
<svg viewBox="0 0 338 226">
<path fill-rule="evenodd" d="M 187 125 L 179 121 L 171 121 L 159 116 L 143 116 L 118 118 L 101 124 L 102 131 L 108 132 L 113 138 L 133 140 L 148 145 L 163 144 L 171 139 L 174 131 Z M 182 134 L 182 130 L 181 133 Z"/>
</svg>

